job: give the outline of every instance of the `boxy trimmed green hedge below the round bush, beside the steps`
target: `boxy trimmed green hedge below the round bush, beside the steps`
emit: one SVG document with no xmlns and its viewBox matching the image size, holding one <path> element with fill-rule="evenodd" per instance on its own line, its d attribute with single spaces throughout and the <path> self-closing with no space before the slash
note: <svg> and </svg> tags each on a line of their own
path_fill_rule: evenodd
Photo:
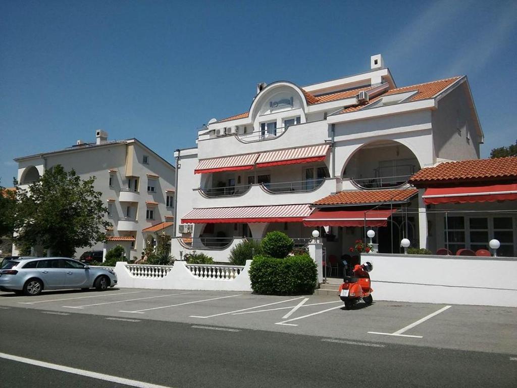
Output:
<svg viewBox="0 0 517 388">
<path fill-rule="evenodd" d="M 249 275 L 257 294 L 312 294 L 317 285 L 316 264 L 306 253 L 284 259 L 255 256 Z"/>
</svg>

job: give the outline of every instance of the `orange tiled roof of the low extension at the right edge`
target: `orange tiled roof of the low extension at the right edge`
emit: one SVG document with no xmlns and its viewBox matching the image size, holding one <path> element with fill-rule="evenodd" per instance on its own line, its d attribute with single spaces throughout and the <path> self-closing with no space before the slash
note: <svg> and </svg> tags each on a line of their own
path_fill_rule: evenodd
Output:
<svg viewBox="0 0 517 388">
<path fill-rule="evenodd" d="M 435 167 L 421 169 L 409 182 L 420 186 L 424 183 L 493 181 L 497 178 L 517 178 L 517 156 L 443 162 Z"/>
</svg>

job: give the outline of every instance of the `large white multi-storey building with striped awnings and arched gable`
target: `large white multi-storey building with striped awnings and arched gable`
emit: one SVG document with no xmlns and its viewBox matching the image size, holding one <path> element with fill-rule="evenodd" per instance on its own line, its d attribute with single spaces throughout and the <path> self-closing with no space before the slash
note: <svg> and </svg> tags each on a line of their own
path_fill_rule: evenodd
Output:
<svg viewBox="0 0 517 388">
<path fill-rule="evenodd" d="M 353 76 L 260 83 L 246 112 L 210 120 L 195 147 L 176 151 L 172 253 L 226 261 L 242 237 L 307 238 L 314 227 L 325 229 L 327 256 L 367 227 L 380 251 L 400 249 L 402 236 L 430 247 L 423 191 L 407 181 L 442 161 L 478 159 L 482 143 L 465 76 L 397 87 L 374 55 Z"/>
</svg>

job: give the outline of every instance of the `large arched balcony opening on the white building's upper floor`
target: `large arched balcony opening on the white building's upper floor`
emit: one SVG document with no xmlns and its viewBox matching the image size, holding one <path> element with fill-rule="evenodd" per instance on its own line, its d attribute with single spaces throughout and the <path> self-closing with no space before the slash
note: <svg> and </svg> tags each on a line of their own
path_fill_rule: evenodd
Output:
<svg viewBox="0 0 517 388">
<path fill-rule="evenodd" d="M 404 185 L 418 170 L 420 163 L 408 147 L 393 140 L 379 140 L 355 151 L 342 176 L 360 188 L 379 189 Z"/>
</svg>

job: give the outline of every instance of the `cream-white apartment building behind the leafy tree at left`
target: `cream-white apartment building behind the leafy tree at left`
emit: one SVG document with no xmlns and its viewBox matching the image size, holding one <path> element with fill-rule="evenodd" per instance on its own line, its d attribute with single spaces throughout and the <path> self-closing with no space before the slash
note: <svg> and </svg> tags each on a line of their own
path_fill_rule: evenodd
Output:
<svg viewBox="0 0 517 388">
<path fill-rule="evenodd" d="M 76 258 L 84 251 L 110 249 L 116 244 L 125 247 L 127 258 L 140 258 L 144 233 L 148 234 L 145 229 L 170 228 L 173 221 L 175 168 L 137 139 L 109 141 L 108 133 L 97 130 L 95 143 L 78 140 L 64 150 L 14 160 L 21 188 L 55 165 L 75 170 L 83 180 L 96 177 L 94 187 L 102 193 L 113 229 L 107 231 L 105 244 L 80 248 Z M 13 255 L 16 253 L 13 247 Z"/>
</svg>

